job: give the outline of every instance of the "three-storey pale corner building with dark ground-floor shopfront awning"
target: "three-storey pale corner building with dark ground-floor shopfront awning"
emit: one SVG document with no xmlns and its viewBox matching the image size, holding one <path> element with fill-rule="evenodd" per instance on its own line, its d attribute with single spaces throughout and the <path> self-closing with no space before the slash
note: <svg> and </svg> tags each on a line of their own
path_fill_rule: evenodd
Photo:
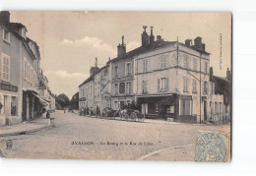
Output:
<svg viewBox="0 0 256 176">
<path fill-rule="evenodd" d="M 202 38 L 196 37 L 192 45 L 191 39 L 183 44 L 164 41 L 160 35 L 156 41 L 147 40 L 149 37 L 145 29 L 142 46 L 148 50 L 135 59 L 135 91 L 142 112 L 148 118 L 207 121 L 210 54 Z"/>
</svg>

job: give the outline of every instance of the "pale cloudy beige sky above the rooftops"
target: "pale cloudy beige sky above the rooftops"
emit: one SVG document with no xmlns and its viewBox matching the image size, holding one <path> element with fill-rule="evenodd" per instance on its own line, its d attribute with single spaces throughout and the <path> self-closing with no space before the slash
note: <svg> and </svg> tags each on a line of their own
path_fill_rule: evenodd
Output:
<svg viewBox="0 0 256 176">
<path fill-rule="evenodd" d="M 11 11 L 11 22 L 22 23 L 40 48 L 41 68 L 55 94 L 70 98 L 98 60 L 104 66 L 117 55 L 124 35 L 127 52 L 141 45 L 143 26 L 154 35 L 180 42 L 201 36 L 211 53 L 214 75 L 225 77 L 231 61 L 231 15 L 228 13 L 150 13 L 84 11 Z M 222 35 L 222 37 L 221 37 Z M 222 38 L 222 39 L 221 39 Z M 222 57 L 221 57 L 222 52 Z"/>
</svg>

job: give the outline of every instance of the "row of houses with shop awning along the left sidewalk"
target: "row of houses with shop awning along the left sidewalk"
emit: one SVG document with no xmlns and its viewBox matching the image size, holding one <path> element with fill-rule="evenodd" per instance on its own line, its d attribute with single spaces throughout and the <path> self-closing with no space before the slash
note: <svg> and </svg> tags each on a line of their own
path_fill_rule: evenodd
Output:
<svg viewBox="0 0 256 176">
<path fill-rule="evenodd" d="M 55 109 L 55 95 L 40 69 L 40 52 L 27 28 L 0 12 L 0 126 L 18 124 Z"/>
</svg>

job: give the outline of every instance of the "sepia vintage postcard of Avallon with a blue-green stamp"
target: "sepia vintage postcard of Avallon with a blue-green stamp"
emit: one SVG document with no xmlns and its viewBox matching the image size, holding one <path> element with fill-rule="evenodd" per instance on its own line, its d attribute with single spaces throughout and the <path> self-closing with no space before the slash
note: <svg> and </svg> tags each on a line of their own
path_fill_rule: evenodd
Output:
<svg viewBox="0 0 256 176">
<path fill-rule="evenodd" d="M 226 162 L 231 14 L 0 11 L 0 155 Z"/>
</svg>

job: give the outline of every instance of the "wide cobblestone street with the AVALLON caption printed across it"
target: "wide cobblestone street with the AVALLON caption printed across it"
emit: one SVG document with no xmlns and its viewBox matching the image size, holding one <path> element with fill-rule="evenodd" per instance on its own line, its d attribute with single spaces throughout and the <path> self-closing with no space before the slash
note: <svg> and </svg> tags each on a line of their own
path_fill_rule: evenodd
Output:
<svg viewBox="0 0 256 176">
<path fill-rule="evenodd" d="M 222 126 L 104 120 L 56 111 L 55 127 L 2 137 L 6 157 L 66 159 L 194 160 L 198 130 L 229 132 Z M 6 140 L 13 147 L 6 149 Z"/>
</svg>

